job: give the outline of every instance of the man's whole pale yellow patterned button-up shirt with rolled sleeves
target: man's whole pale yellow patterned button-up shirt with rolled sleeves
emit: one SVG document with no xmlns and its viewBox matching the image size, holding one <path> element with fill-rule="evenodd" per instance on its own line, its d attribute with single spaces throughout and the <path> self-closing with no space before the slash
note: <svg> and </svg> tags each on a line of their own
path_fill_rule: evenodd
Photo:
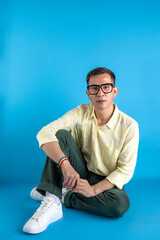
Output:
<svg viewBox="0 0 160 240">
<path fill-rule="evenodd" d="M 79 105 L 41 129 L 37 134 L 39 146 L 58 141 L 55 134 L 60 129 L 71 132 L 89 171 L 106 176 L 119 189 L 132 178 L 137 160 L 138 124 L 116 105 L 111 119 L 103 126 L 98 126 L 91 103 Z"/>
</svg>

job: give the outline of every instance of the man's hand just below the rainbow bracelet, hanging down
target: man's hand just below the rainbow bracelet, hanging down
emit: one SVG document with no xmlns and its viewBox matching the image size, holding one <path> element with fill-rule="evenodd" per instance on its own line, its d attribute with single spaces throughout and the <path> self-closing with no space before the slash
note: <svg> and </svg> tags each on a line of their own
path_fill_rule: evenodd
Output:
<svg viewBox="0 0 160 240">
<path fill-rule="evenodd" d="M 71 166 L 69 161 L 64 161 L 61 165 L 62 173 L 64 176 L 63 187 L 67 190 L 72 190 L 79 185 L 80 176 Z"/>
</svg>

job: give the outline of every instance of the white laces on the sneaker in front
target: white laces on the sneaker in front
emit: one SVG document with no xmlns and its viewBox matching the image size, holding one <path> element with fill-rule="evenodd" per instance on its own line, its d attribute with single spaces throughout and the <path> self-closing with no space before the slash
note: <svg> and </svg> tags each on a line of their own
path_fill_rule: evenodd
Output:
<svg viewBox="0 0 160 240">
<path fill-rule="evenodd" d="M 44 215 L 51 208 L 52 204 L 53 204 L 53 201 L 50 198 L 44 197 L 44 200 L 42 201 L 40 207 L 32 216 L 32 219 L 38 220 L 40 216 Z"/>
</svg>

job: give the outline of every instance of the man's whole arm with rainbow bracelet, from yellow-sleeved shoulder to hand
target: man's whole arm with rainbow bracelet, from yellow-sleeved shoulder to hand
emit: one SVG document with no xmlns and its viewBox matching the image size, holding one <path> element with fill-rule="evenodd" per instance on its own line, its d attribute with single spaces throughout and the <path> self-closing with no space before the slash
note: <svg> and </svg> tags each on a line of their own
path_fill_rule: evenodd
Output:
<svg viewBox="0 0 160 240">
<path fill-rule="evenodd" d="M 65 156 L 62 152 L 56 132 L 60 129 L 70 131 L 77 122 L 79 117 L 79 108 L 72 109 L 58 120 L 53 121 L 47 126 L 43 127 L 37 134 L 37 140 L 40 148 L 46 155 L 55 163 Z M 64 161 L 61 165 L 62 173 L 65 177 L 63 182 L 64 187 L 72 189 L 79 182 L 79 174 L 73 169 L 69 161 Z"/>
</svg>

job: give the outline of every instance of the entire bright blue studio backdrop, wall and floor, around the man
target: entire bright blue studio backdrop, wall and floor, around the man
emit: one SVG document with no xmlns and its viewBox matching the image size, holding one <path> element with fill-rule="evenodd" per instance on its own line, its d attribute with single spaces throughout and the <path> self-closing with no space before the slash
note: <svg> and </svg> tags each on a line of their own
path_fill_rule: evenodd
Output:
<svg viewBox="0 0 160 240">
<path fill-rule="evenodd" d="M 2 238 L 160 239 L 159 13 L 158 0 L 0 0 Z M 116 74 L 115 103 L 139 123 L 130 211 L 111 220 L 63 207 L 62 221 L 24 235 L 39 206 L 29 192 L 45 162 L 36 134 L 89 102 L 86 74 L 99 66 Z"/>
</svg>

